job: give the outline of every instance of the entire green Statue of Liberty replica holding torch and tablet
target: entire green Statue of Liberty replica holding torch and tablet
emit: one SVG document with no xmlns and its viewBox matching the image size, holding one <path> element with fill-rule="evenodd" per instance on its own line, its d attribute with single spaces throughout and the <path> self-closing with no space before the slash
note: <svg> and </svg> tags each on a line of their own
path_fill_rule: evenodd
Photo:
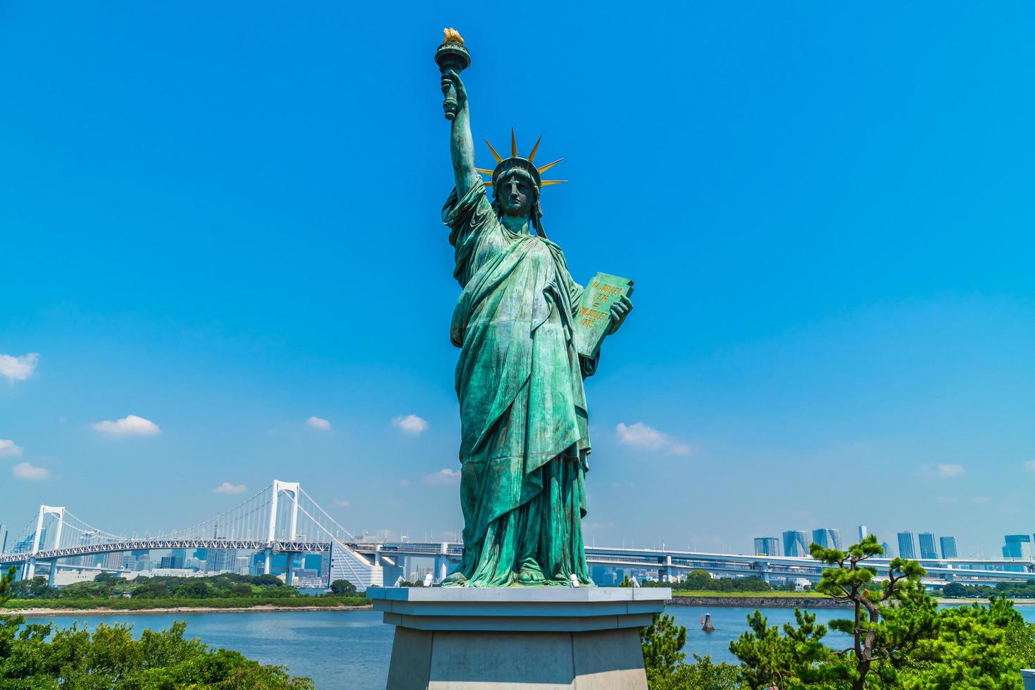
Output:
<svg viewBox="0 0 1035 690">
<path fill-rule="evenodd" d="M 461 349 L 465 554 L 443 584 L 592 586 L 582 533 L 590 453 L 583 381 L 596 370 L 600 340 L 632 308 L 631 281 L 597 274 L 584 288 L 571 278 L 542 224 L 542 188 L 563 180 L 540 175 L 559 160 L 537 168 L 539 142 L 518 155 L 511 129 L 510 155 L 485 140 L 496 168 L 475 168 L 460 77 L 470 55 L 459 33 L 446 30 L 436 61 L 455 181 L 442 218 L 462 288 L 450 338 Z"/>
</svg>

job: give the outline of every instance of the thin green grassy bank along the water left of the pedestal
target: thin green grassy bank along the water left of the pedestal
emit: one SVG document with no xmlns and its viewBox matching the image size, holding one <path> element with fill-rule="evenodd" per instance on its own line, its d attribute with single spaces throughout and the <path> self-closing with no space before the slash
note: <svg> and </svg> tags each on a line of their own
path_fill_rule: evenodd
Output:
<svg viewBox="0 0 1035 690">
<path fill-rule="evenodd" d="M 161 599 L 12 599 L 3 605 L 4 609 L 32 610 L 34 608 L 90 610 L 108 609 L 120 611 L 141 611 L 152 608 L 253 608 L 255 606 L 276 606 L 277 608 L 314 608 L 335 606 L 365 606 L 371 603 L 365 597 L 212 597 L 191 599 L 169 597 Z"/>
</svg>

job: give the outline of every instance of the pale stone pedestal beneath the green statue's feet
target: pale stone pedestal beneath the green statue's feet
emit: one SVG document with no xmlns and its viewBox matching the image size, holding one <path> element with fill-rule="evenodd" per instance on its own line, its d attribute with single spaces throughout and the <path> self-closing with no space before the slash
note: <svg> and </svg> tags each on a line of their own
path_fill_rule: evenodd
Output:
<svg viewBox="0 0 1035 690">
<path fill-rule="evenodd" d="M 668 588 L 371 588 L 388 690 L 647 690 L 640 628 Z"/>
</svg>

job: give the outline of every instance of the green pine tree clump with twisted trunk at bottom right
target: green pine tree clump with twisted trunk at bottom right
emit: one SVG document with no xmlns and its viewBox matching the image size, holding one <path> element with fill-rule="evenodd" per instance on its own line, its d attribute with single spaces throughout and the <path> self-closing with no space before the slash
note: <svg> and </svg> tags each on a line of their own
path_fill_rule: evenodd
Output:
<svg viewBox="0 0 1035 690">
<path fill-rule="evenodd" d="M 797 626 L 785 625 L 783 635 L 756 611 L 751 630 L 730 644 L 743 663 L 740 682 L 758 689 L 775 684 L 781 690 L 801 688 L 905 690 L 1022 687 L 1019 613 L 1010 602 L 990 606 L 939 610 L 924 592 L 923 569 L 894 559 L 887 582 L 875 586 L 875 571 L 865 561 L 883 552 L 867 537 L 848 552 L 812 544 L 812 557 L 826 568 L 816 589 L 851 606 L 852 619 L 831 621 L 851 647 L 823 646 L 826 633 L 816 617 L 795 610 Z M 1013 638 L 1009 631 L 1017 631 Z M 1011 641 L 1012 640 L 1012 641 Z"/>
</svg>

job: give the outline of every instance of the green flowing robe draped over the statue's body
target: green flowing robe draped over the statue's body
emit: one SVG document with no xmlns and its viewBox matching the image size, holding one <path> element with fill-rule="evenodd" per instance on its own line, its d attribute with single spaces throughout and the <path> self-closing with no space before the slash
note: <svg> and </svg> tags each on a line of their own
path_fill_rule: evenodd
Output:
<svg viewBox="0 0 1035 690">
<path fill-rule="evenodd" d="M 461 348 L 464 561 L 447 584 L 591 583 L 583 544 L 589 428 L 583 377 L 596 361 L 571 343 L 583 288 L 561 248 L 504 227 L 479 182 L 442 210 L 463 292 Z"/>
</svg>

